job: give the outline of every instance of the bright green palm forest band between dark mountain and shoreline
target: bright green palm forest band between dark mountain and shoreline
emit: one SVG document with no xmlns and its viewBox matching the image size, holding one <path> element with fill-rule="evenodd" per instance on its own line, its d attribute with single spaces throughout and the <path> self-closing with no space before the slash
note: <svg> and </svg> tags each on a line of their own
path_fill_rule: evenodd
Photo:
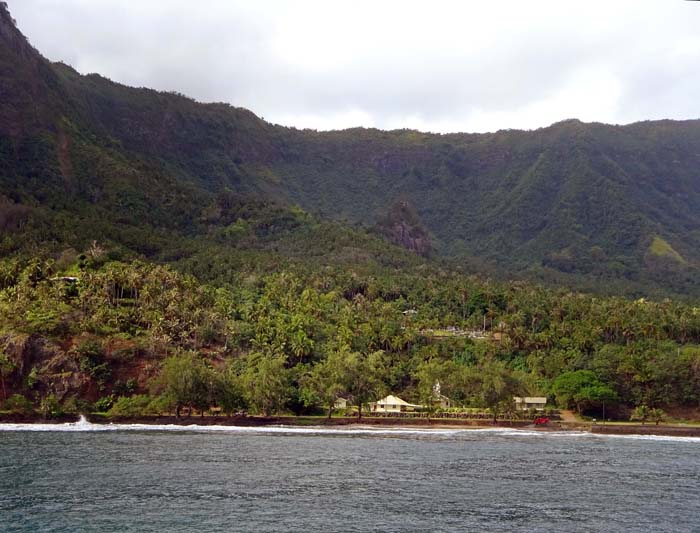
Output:
<svg viewBox="0 0 700 533">
<path fill-rule="evenodd" d="M 5 396 L 131 414 L 314 413 L 341 396 L 425 403 L 439 382 L 455 405 L 492 411 L 517 394 L 613 413 L 700 404 L 697 307 L 425 264 L 241 268 L 202 283 L 108 256 L 95 245 L 62 263 L 4 263 Z"/>
</svg>

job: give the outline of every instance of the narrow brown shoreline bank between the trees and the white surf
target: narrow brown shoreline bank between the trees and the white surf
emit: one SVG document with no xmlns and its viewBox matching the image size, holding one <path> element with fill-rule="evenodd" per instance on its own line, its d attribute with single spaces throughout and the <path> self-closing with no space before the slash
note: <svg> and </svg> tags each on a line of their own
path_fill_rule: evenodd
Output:
<svg viewBox="0 0 700 533">
<path fill-rule="evenodd" d="M 141 424 L 141 425 L 174 425 L 174 426 L 237 426 L 237 427 L 389 427 L 389 428 L 422 428 L 422 429 L 514 429 L 537 432 L 587 432 L 596 435 L 641 435 L 659 437 L 695 437 L 700 438 L 700 426 L 682 425 L 642 425 L 642 424 L 585 424 L 571 422 L 554 422 L 548 426 L 535 426 L 530 421 L 499 421 L 496 424 L 485 420 L 459 420 L 444 418 L 362 418 L 338 417 L 330 420 L 324 417 L 311 416 L 134 416 L 107 417 L 100 414 L 89 414 L 85 419 L 91 424 Z M 0 414 L 2 424 L 66 424 L 80 421 L 80 415 L 63 415 L 59 418 L 45 420 L 40 415 L 22 415 L 13 413 Z"/>
</svg>

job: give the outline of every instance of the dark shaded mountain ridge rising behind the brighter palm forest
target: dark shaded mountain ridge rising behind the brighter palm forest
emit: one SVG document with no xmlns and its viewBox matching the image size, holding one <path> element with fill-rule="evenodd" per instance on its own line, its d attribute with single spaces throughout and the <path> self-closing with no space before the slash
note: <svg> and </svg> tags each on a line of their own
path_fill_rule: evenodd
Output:
<svg viewBox="0 0 700 533">
<path fill-rule="evenodd" d="M 5 254 L 97 240 L 186 258 L 180 237 L 236 223 L 221 214 L 223 194 L 374 227 L 376 237 L 347 231 L 495 275 L 700 295 L 700 121 L 302 131 L 50 63 L 6 6 L 0 87 Z M 411 223 L 387 226 L 401 202 Z"/>
</svg>

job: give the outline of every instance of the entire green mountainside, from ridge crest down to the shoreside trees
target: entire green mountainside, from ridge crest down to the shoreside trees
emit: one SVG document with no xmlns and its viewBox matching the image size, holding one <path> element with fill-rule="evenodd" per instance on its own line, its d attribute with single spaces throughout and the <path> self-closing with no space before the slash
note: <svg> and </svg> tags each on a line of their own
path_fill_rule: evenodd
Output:
<svg viewBox="0 0 700 533">
<path fill-rule="evenodd" d="M 700 122 L 300 131 L 50 63 L 4 3 L 0 93 L 5 409 L 700 407 Z"/>
</svg>

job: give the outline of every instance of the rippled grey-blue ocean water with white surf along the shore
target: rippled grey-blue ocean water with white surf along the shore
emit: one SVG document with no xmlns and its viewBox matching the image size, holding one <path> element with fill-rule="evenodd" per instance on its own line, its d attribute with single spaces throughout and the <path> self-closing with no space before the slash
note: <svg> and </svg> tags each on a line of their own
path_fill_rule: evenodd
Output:
<svg viewBox="0 0 700 533">
<path fill-rule="evenodd" d="M 700 439 L 5 424 L 0 531 L 700 532 Z"/>
</svg>

